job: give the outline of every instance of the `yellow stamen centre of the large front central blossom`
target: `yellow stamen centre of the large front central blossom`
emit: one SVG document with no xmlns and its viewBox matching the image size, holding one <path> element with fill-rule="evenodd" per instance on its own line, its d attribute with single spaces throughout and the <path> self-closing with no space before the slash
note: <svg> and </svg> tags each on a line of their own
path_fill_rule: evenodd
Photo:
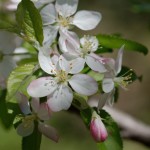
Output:
<svg viewBox="0 0 150 150">
<path fill-rule="evenodd" d="M 64 83 L 68 79 L 68 74 L 63 70 L 59 70 L 57 71 L 56 78 L 59 83 Z"/>
</svg>

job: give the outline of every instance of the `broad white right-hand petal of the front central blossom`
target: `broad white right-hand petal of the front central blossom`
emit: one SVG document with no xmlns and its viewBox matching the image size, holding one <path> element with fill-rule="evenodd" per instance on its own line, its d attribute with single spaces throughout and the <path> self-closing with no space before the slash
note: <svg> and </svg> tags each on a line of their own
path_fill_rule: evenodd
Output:
<svg viewBox="0 0 150 150">
<path fill-rule="evenodd" d="M 77 93 L 87 96 L 93 95 L 98 90 L 97 82 L 85 74 L 74 75 L 69 83 Z"/>
</svg>

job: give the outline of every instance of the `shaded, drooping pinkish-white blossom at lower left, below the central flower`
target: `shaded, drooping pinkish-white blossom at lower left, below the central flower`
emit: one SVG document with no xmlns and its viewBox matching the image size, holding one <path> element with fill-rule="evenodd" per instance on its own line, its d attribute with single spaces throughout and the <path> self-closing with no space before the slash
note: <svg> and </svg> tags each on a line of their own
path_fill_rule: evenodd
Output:
<svg viewBox="0 0 150 150">
<path fill-rule="evenodd" d="M 24 116 L 22 117 L 22 123 L 16 128 L 17 133 L 23 137 L 32 134 L 35 127 L 34 121 L 38 121 L 38 130 L 46 137 L 57 142 L 59 138 L 57 131 L 53 127 L 43 123 L 43 121 L 50 119 L 50 110 L 47 104 L 40 104 L 39 99 L 32 99 L 31 111 L 27 98 L 24 95 L 20 95 L 20 98 L 18 103 Z"/>
</svg>

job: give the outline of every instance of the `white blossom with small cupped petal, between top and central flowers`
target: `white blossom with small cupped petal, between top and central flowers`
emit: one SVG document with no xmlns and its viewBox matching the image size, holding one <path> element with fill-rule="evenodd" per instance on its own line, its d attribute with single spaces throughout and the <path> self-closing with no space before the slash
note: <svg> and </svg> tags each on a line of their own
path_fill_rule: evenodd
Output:
<svg viewBox="0 0 150 150">
<path fill-rule="evenodd" d="M 72 36 L 74 38 L 71 41 L 68 41 L 68 36 L 70 34 L 65 34 L 66 40 L 59 41 L 59 45 L 61 50 L 64 52 L 64 56 L 68 58 L 68 56 L 72 58 L 80 58 L 83 59 L 81 66 L 84 67 L 86 63 L 92 70 L 98 71 L 100 73 L 106 72 L 105 63 L 107 61 L 106 58 L 102 58 L 96 55 L 94 52 L 98 49 L 98 40 L 95 36 L 84 36 L 80 40 L 78 37 Z"/>
</svg>

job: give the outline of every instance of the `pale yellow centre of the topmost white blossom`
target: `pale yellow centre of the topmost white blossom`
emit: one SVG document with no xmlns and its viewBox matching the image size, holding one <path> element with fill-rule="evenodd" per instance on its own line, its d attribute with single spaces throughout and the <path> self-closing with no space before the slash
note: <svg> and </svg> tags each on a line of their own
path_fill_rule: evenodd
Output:
<svg viewBox="0 0 150 150">
<path fill-rule="evenodd" d="M 71 17 L 59 16 L 58 17 L 58 22 L 59 22 L 60 26 L 69 29 L 70 28 L 70 23 L 71 23 Z"/>
</svg>

